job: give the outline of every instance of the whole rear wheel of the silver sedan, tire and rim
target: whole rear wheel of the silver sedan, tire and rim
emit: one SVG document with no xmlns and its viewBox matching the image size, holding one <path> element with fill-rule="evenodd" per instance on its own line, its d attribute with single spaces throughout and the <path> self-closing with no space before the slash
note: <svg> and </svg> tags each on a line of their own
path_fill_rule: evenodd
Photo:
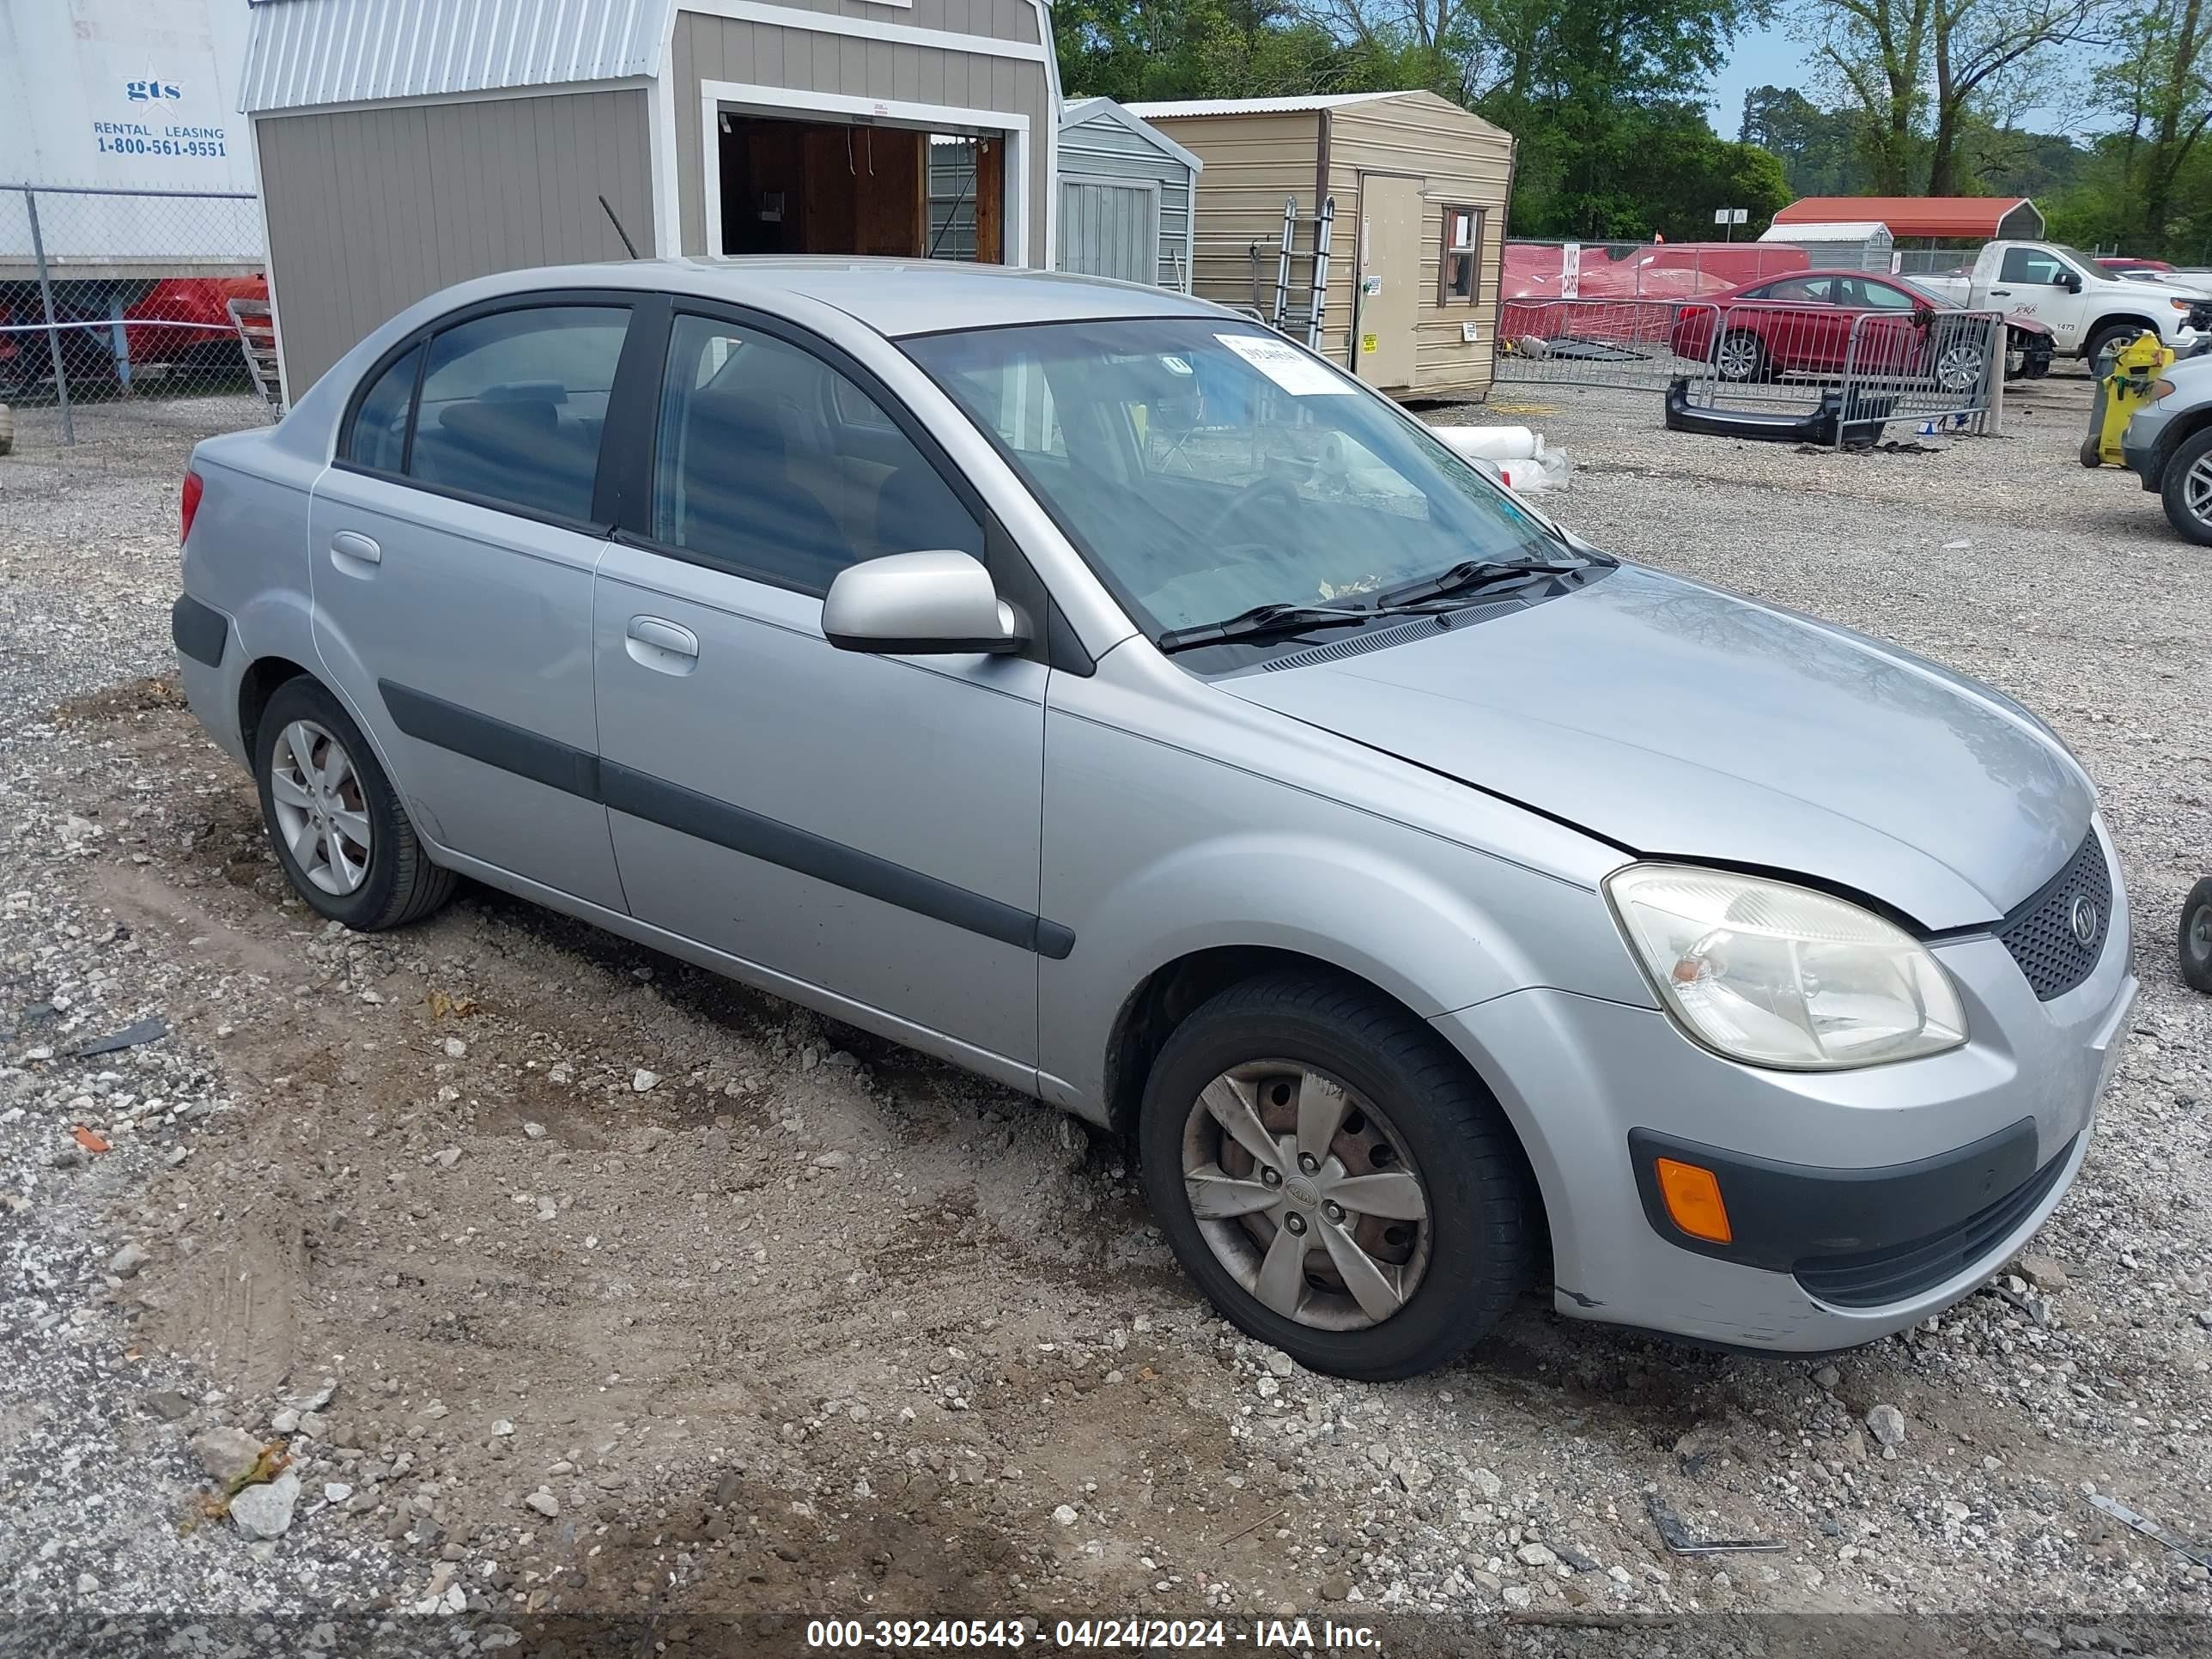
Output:
<svg viewBox="0 0 2212 1659">
<path fill-rule="evenodd" d="M 361 728 L 312 679 L 288 679 L 261 710 L 254 779 L 276 863 L 319 916 L 374 933 L 453 894 Z"/>
</svg>

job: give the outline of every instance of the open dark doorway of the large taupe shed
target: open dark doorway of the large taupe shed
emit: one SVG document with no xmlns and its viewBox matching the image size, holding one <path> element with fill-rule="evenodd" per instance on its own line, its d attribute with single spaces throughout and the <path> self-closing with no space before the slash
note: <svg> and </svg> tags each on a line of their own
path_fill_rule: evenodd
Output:
<svg viewBox="0 0 2212 1659">
<path fill-rule="evenodd" d="M 1004 263 L 1002 133 L 721 111 L 714 144 L 726 254 Z"/>
</svg>

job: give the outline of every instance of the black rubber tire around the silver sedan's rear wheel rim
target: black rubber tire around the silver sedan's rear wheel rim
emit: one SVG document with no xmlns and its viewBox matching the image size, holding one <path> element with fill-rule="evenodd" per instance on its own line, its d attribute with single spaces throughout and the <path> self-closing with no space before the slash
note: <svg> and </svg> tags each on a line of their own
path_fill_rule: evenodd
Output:
<svg viewBox="0 0 2212 1659">
<path fill-rule="evenodd" d="M 276 743 L 283 741 L 285 728 L 294 721 L 321 726 L 330 741 L 345 750 L 345 761 L 361 787 L 361 810 L 369 821 L 369 856 L 361 885 L 349 894 L 330 894 L 316 887 L 279 830 L 274 759 Z M 453 896 L 460 878 L 451 869 L 434 865 L 422 852 L 414 825 L 400 810 L 392 779 L 376 763 L 376 750 L 354 726 L 354 717 L 330 690 L 305 675 L 279 686 L 261 710 L 261 723 L 254 730 L 254 785 L 261 794 L 261 827 L 276 852 L 276 863 L 283 867 L 285 880 L 292 883 L 292 891 L 305 898 L 316 916 L 345 922 L 361 933 L 380 933 L 387 927 L 422 920 Z"/>
</svg>

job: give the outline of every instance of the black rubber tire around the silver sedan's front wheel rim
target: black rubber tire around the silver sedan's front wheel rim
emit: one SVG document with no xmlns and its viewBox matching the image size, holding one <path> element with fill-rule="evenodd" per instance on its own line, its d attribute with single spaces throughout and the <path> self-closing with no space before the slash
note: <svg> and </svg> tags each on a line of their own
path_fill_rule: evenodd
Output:
<svg viewBox="0 0 2212 1659">
<path fill-rule="evenodd" d="M 1208 1245 L 1183 1186 L 1183 1126 L 1230 1066 L 1292 1060 L 1391 1117 L 1429 1203 L 1429 1265 L 1389 1318 L 1321 1329 L 1276 1314 Z M 1347 980 L 1259 978 L 1221 991 L 1168 1037 L 1144 1086 L 1139 1161 L 1152 1214 L 1183 1270 L 1239 1329 L 1329 1376 L 1385 1383 L 1447 1365 L 1528 1287 L 1526 1161 L 1489 1091 L 1413 1015 Z"/>
</svg>

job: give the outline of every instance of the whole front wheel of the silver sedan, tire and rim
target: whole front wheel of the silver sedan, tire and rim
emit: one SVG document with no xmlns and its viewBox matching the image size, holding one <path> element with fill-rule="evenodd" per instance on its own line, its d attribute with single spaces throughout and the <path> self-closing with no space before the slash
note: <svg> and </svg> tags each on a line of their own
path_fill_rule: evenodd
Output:
<svg viewBox="0 0 2212 1659">
<path fill-rule="evenodd" d="M 1323 975 L 1248 980 L 1146 1079 L 1139 1150 L 1177 1259 L 1241 1329 L 1369 1383 L 1444 1365 L 1528 1285 L 1498 1104 L 1420 1020 Z"/>
</svg>

